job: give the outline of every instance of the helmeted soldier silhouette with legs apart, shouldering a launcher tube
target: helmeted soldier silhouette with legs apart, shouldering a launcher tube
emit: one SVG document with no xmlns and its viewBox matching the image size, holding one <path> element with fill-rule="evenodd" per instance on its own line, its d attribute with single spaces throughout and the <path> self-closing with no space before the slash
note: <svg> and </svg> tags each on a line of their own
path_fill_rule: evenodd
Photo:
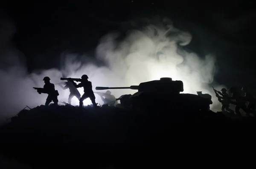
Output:
<svg viewBox="0 0 256 169">
<path fill-rule="evenodd" d="M 81 83 L 79 83 L 79 84 L 76 84 L 72 80 L 72 78 L 68 78 L 68 80 L 70 80 L 76 88 L 79 88 L 79 87 L 83 87 L 84 88 L 84 94 L 82 95 L 82 97 L 79 100 L 79 107 L 83 106 L 83 101 L 85 99 L 87 99 L 88 97 L 92 101 L 93 106 L 97 107 L 97 104 L 95 102 L 95 95 L 94 95 L 93 89 L 92 89 L 93 86 L 92 86 L 92 83 L 90 81 L 88 81 L 88 76 L 86 74 L 82 75 Z"/>
</svg>

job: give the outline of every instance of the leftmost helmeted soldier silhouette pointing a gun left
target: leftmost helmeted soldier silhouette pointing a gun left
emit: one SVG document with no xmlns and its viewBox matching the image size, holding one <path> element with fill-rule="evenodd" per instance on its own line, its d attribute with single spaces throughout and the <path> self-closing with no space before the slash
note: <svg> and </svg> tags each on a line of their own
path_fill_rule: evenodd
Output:
<svg viewBox="0 0 256 169">
<path fill-rule="evenodd" d="M 55 86 L 54 84 L 50 83 L 50 78 L 49 77 L 44 77 L 44 88 L 37 88 L 37 87 L 33 87 L 33 89 L 37 90 L 38 94 L 41 93 L 46 93 L 48 94 L 48 97 L 46 99 L 45 102 L 45 106 L 48 106 L 49 103 L 51 103 L 53 101 L 53 103 L 55 105 L 58 105 L 58 90 L 55 90 Z"/>
</svg>

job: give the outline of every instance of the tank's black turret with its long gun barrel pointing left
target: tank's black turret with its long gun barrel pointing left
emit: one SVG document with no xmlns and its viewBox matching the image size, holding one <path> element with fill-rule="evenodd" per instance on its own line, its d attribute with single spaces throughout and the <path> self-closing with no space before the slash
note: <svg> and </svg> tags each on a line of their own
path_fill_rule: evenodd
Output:
<svg viewBox="0 0 256 169">
<path fill-rule="evenodd" d="M 180 80 L 173 81 L 170 77 L 162 77 L 160 80 L 152 80 L 148 82 L 140 83 L 139 86 L 130 87 L 96 87 L 96 90 L 107 89 L 134 89 L 138 92 L 150 92 L 150 93 L 180 93 L 183 92 L 183 82 Z"/>
</svg>

